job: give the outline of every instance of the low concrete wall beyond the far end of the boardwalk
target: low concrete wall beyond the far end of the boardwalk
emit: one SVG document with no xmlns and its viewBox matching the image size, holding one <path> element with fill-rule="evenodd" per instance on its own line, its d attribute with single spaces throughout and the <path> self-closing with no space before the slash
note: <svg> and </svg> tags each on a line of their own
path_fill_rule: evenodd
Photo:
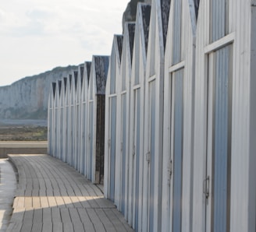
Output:
<svg viewBox="0 0 256 232">
<path fill-rule="evenodd" d="M 48 142 L 0 142 L 0 158 L 8 154 L 47 154 Z"/>
</svg>

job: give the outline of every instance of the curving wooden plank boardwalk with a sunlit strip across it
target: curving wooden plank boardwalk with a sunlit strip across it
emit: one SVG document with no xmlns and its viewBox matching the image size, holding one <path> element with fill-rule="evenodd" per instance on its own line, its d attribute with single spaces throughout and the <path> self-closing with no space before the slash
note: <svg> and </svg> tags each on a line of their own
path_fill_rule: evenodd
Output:
<svg viewBox="0 0 256 232">
<path fill-rule="evenodd" d="M 7 231 L 133 231 L 96 185 L 47 155 L 10 155 L 19 172 Z"/>
</svg>

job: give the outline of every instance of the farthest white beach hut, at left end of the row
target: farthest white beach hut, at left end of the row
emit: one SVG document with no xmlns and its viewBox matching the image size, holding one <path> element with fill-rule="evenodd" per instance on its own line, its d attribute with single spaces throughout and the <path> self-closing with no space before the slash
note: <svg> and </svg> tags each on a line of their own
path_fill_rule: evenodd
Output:
<svg viewBox="0 0 256 232">
<path fill-rule="evenodd" d="M 51 83 L 48 97 L 48 154 L 53 155 L 54 146 L 54 99 L 56 83 Z"/>
</svg>

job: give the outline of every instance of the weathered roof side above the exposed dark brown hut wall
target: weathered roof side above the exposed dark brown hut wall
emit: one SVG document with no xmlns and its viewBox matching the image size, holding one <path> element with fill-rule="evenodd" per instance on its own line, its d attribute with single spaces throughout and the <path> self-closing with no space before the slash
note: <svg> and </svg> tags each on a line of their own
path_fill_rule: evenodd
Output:
<svg viewBox="0 0 256 232">
<path fill-rule="evenodd" d="M 96 94 L 105 94 L 105 85 L 108 77 L 108 64 L 108 56 L 94 56 Z"/>
</svg>

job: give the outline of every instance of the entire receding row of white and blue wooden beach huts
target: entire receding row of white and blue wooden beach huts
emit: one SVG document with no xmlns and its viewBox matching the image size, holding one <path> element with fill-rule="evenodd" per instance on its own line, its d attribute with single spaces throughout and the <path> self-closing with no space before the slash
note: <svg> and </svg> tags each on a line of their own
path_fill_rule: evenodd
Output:
<svg viewBox="0 0 256 232">
<path fill-rule="evenodd" d="M 136 231 L 255 231 L 255 5 L 140 3 L 110 57 L 52 83 L 48 153 Z"/>
</svg>

